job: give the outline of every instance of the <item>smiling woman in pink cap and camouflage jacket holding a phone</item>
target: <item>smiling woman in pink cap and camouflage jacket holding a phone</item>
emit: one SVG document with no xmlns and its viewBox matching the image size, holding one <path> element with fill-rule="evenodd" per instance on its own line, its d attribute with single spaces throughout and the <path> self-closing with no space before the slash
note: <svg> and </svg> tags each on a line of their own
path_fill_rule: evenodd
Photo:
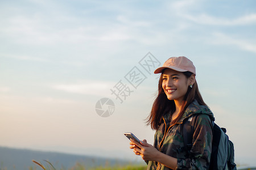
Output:
<svg viewBox="0 0 256 170">
<path fill-rule="evenodd" d="M 147 169 L 208 169 L 213 114 L 200 95 L 195 66 L 186 57 L 171 57 L 154 73 L 162 73 L 158 96 L 147 120 L 156 130 L 154 146 L 144 139 L 141 143 L 132 140 L 130 148 L 142 156 Z M 193 145 L 188 151 L 184 146 L 183 123 L 196 114 Z"/>
</svg>

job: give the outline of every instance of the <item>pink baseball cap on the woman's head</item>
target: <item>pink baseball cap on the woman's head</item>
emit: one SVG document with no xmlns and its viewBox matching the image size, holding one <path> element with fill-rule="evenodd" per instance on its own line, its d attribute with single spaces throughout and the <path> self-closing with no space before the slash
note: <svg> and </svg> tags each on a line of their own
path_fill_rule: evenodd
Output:
<svg viewBox="0 0 256 170">
<path fill-rule="evenodd" d="M 196 75 L 196 67 L 187 57 L 171 57 L 164 62 L 162 67 L 154 71 L 155 74 L 162 73 L 163 69 L 172 69 L 180 72 L 190 71 Z"/>
</svg>

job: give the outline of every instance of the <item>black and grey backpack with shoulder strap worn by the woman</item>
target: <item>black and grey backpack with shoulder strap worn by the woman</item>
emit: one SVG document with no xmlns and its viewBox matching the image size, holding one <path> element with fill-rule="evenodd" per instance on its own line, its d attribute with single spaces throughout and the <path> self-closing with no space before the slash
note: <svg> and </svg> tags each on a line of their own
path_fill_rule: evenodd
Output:
<svg viewBox="0 0 256 170">
<path fill-rule="evenodd" d="M 192 148 L 192 139 L 194 133 L 194 127 L 197 120 L 196 114 L 188 117 L 183 123 L 183 138 L 184 145 L 188 153 Z M 236 164 L 234 163 L 234 145 L 229 141 L 228 135 L 226 135 L 226 129 L 220 128 L 212 120 L 213 126 L 213 141 L 212 141 L 212 154 L 210 155 L 210 170 L 236 170 Z"/>
</svg>

